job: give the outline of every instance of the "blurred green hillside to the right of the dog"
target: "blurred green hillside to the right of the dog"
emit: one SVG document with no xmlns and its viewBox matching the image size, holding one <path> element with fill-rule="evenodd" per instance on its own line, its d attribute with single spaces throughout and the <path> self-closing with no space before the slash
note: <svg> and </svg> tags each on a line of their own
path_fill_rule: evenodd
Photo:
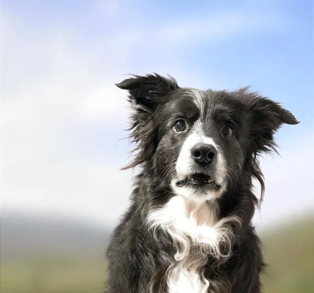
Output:
<svg viewBox="0 0 314 293">
<path fill-rule="evenodd" d="M 314 218 L 278 227 L 263 239 L 265 293 L 314 292 Z"/>
</svg>

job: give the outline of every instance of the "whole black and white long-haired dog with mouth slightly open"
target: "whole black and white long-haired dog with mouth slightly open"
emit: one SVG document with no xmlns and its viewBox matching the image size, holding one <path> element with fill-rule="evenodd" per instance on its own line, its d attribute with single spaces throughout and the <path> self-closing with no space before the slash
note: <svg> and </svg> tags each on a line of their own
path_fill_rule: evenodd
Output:
<svg viewBox="0 0 314 293">
<path fill-rule="evenodd" d="M 251 220 L 259 155 L 296 118 L 250 92 L 181 88 L 156 73 L 128 90 L 131 205 L 106 250 L 105 293 L 260 293 L 261 241 Z"/>
</svg>

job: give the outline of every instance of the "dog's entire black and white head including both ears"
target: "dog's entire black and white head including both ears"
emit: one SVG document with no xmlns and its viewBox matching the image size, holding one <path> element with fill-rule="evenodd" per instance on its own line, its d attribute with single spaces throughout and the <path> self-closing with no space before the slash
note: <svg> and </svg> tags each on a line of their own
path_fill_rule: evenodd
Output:
<svg viewBox="0 0 314 293">
<path fill-rule="evenodd" d="M 274 132 L 297 124 L 280 104 L 247 89 L 234 92 L 180 88 L 173 78 L 133 76 L 127 89 L 133 113 L 134 161 L 146 164 L 174 194 L 202 202 L 256 176 L 261 152 L 275 149 Z"/>
</svg>

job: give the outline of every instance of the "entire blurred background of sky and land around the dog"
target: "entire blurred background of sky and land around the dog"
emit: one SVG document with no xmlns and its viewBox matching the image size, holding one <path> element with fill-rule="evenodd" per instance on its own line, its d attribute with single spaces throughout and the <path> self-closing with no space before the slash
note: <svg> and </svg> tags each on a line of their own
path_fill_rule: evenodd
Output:
<svg viewBox="0 0 314 293">
<path fill-rule="evenodd" d="M 150 72 L 251 86 L 301 121 L 261 158 L 254 224 L 264 292 L 314 292 L 311 0 L 1 2 L 1 293 L 102 291 L 134 174 L 114 83 Z"/>
</svg>

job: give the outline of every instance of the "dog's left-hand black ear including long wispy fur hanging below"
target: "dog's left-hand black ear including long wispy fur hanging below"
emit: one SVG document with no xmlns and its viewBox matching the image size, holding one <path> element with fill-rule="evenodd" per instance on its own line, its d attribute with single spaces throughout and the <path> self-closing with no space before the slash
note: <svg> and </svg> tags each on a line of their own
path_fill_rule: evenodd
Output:
<svg viewBox="0 0 314 293">
<path fill-rule="evenodd" d="M 172 90 L 179 88 L 172 77 L 162 77 L 158 74 L 147 76 L 133 75 L 132 78 L 116 84 L 118 88 L 127 89 L 130 93 L 133 113 L 131 114 L 131 137 L 136 144 L 134 152 L 138 151 L 134 160 L 124 167 L 128 169 L 150 160 L 157 147 L 157 125 L 154 121 L 154 111 Z"/>
</svg>

